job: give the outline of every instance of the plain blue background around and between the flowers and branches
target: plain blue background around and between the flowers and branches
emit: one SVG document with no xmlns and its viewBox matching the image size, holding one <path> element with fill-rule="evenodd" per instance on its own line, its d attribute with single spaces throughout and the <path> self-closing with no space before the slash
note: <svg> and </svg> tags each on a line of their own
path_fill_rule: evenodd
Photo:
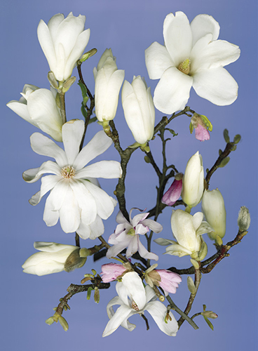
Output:
<svg viewBox="0 0 258 351">
<path fill-rule="evenodd" d="M 168 162 L 184 172 L 186 162 L 196 151 L 203 156 L 204 168 L 210 168 L 224 149 L 224 128 L 229 129 L 231 140 L 237 133 L 242 135 L 236 152 L 225 168 L 220 168 L 210 182 L 210 190 L 218 187 L 224 196 L 227 211 L 227 231 L 224 242 L 231 241 L 238 232 L 236 223 L 240 206 L 250 209 L 252 223 L 243 242 L 230 251 L 215 270 L 203 275 L 198 296 L 190 315 L 200 312 L 202 305 L 213 310 L 219 318 L 212 321 L 211 331 L 202 317 L 195 319 L 200 327 L 194 331 L 186 322 L 175 338 L 163 334 L 147 315 L 150 331 L 139 317 L 130 322 L 137 325 L 133 332 L 119 328 L 107 338 L 102 331 L 108 322 L 106 305 L 113 298 L 115 284 L 108 291 L 101 291 L 100 303 L 86 300 L 86 294 L 77 294 L 70 300 L 71 310 L 64 312 L 69 331 L 60 324 L 48 326 L 45 320 L 53 315 L 52 308 L 66 294 L 70 283 L 79 284 L 83 274 L 95 268 L 100 272 L 106 259 L 93 264 L 92 258 L 81 270 L 71 274 L 62 272 L 45 277 L 22 273 L 21 265 L 34 253 L 34 241 L 56 241 L 74 244 L 73 234 L 64 234 L 59 223 L 46 227 L 43 223 L 45 199 L 33 207 L 27 201 L 37 192 L 40 183 L 29 185 L 22 180 L 22 172 L 40 166 L 45 160 L 29 145 L 29 136 L 36 128 L 27 124 L 5 105 L 10 100 L 19 100 L 24 84 L 48 88 L 48 63 L 36 37 L 39 20 L 48 22 L 55 13 L 86 15 L 86 28 L 91 29 L 87 49 L 98 52 L 83 64 L 83 77 L 93 92 L 93 67 L 97 65 L 105 48 L 112 49 L 117 58 L 118 69 L 125 69 L 125 79 L 133 75 L 145 77 L 152 93 L 157 81 L 151 81 L 144 63 L 144 49 L 153 41 L 163 44 L 163 20 L 172 12 L 183 11 L 189 20 L 200 13 L 212 15 L 221 26 L 219 39 L 240 46 L 238 61 L 226 67 L 239 85 L 239 96 L 233 105 L 218 107 L 203 100 L 191 91 L 188 105 L 200 114 L 208 116 L 213 124 L 209 142 L 200 143 L 189 133 L 189 119 L 180 117 L 172 121 L 179 135 L 168 143 Z M 257 350 L 257 1 L 255 0 L 160 0 L 160 1 L 1 1 L 1 346 L 3 350 L 178 350 L 215 351 Z M 74 74 L 76 71 L 74 70 Z M 74 84 L 67 93 L 68 119 L 82 119 L 81 93 Z M 156 111 L 156 122 L 161 119 Z M 121 102 L 115 119 L 121 133 L 123 147 L 134 142 L 127 128 Z M 90 126 L 87 140 L 100 130 Z M 158 157 L 161 144 L 158 138 L 151 142 L 154 157 Z M 149 164 L 143 161 L 137 150 L 128 166 L 126 181 L 127 207 L 152 208 L 155 204 L 156 175 Z M 119 160 L 114 147 L 110 147 L 99 159 Z M 159 162 L 159 161 L 157 161 Z M 161 165 L 161 163 L 159 163 Z M 101 180 L 109 194 L 116 180 Z M 46 198 L 46 197 L 45 197 Z M 200 210 L 200 205 L 196 211 Z M 117 211 L 117 208 L 116 208 Z M 114 232 L 114 214 L 107 220 L 104 238 Z M 162 236 L 172 239 L 170 228 L 171 209 L 165 208 L 159 221 L 163 224 Z M 154 234 L 155 235 L 155 234 Z M 158 237 L 156 236 L 156 237 Z M 215 253 L 212 241 L 208 243 L 209 254 Z M 83 241 L 82 246 L 93 246 L 95 241 Z M 145 244 L 144 238 L 142 243 Z M 163 247 L 153 244 L 152 249 L 160 256 L 159 268 L 189 267 L 189 257 L 162 256 Z M 184 310 L 189 291 L 186 276 L 172 298 Z M 178 317 L 175 314 L 176 318 Z"/>
</svg>

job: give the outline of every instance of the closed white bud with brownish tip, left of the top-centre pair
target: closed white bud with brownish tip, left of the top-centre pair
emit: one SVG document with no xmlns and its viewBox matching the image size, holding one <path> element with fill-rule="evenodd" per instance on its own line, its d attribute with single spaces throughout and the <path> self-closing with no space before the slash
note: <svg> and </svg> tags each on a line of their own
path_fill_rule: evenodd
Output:
<svg viewBox="0 0 258 351">
<path fill-rule="evenodd" d="M 111 48 L 102 54 L 97 68 L 94 67 L 95 78 L 95 114 L 99 121 L 110 121 L 116 116 L 118 95 L 125 77 L 123 69 L 117 69 L 116 58 Z"/>
</svg>

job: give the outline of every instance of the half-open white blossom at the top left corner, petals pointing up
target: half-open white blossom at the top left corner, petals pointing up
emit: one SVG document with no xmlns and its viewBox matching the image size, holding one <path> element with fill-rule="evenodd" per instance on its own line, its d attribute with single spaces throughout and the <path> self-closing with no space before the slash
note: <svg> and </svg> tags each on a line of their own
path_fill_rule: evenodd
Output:
<svg viewBox="0 0 258 351">
<path fill-rule="evenodd" d="M 67 18 L 57 13 L 48 25 L 43 20 L 39 22 L 39 44 L 57 81 L 71 77 L 76 61 L 88 44 L 90 29 L 84 30 L 85 21 L 85 16 L 75 17 L 70 12 Z"/>
</svg>

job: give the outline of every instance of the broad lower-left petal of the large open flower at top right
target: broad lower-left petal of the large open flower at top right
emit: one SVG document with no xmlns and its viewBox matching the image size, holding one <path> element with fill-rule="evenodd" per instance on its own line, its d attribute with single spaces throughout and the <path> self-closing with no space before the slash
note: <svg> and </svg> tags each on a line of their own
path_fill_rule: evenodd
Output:
<svg viewBox="0 0 258 351">
<path fill-rule="evenodd" d="M 193 78 L 175 67 L 168 68 L 154 91 L 155 107 L 165 113 L 183 110 L 190 96 Z"/>
</svg>

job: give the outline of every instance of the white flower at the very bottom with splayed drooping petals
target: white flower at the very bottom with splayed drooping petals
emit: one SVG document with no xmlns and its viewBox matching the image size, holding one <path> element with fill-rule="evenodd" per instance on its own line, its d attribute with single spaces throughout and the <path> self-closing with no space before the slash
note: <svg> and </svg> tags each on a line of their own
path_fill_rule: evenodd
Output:
<svg viewBox="0 0 258 351">
<path fill-rule="evenodd" d="M 160 301 L 156 301 L 154 290 L 147 285 L 144 289 L 142 279 L 136 272 L 128 272 L 123 276 L 122 282 L 116 283 L 116 292 L 118 296 L 112 298 L 107 305 L 107 314 L 109 322 L 104 329 L 103 337 L 114 333 L 118 326 L 133 331 L 135 324 L 128 322 L 128 318 L 133 314 L 144 314 L 148 311 L 154 319 L 158 328 L 168 336 L 176 336 L 178 324 L 171 312 L 170 318 L 166 319 L 167 308 Z M 116 312 L 113 310 L 114 305 L 120 305 Z"/>
</svg>

